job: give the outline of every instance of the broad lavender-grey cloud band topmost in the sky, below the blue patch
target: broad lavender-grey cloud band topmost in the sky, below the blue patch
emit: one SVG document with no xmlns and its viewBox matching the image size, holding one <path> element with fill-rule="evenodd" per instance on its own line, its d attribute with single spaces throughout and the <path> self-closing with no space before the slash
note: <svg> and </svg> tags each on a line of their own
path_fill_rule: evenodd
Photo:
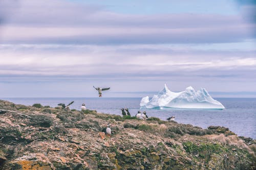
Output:
<svg viewBox="0 0 256 170">
<path fill-rule="evenodd" d="M 12 11 L 11 5 L 5 8 Z M 256 26 L 240 16 L 124 15 L 48 0 L 22 1 L 2 30 L 2 43 L 160 44 L 241 42 L 252 38 Z"/>
</svg>

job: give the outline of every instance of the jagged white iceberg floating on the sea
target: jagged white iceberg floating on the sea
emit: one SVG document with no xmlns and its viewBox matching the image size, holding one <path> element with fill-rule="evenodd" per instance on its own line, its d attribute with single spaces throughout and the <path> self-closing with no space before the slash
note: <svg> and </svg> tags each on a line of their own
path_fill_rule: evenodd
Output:
<svg viewBox="0 0 256 170">
<path fill-rule="evenodd" d="M 173 92 L 166 84 L 162 91 L 150 100 L 145 96 L 140 101 L 141 109 L 225 109 L 225 107 L 211 98 L 209 93 L 201 88 L 195 90 L 189 86 L 185 91 Z"/>
</svg>

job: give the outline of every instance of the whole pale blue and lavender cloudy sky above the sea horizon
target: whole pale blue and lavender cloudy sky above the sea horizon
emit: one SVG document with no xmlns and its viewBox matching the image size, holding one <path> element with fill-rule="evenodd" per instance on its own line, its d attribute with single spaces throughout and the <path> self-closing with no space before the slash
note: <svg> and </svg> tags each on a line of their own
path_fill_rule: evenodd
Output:
<svg viewBox="0 0 256 170">
<path fill-rule="evenodd" d="M 256 1 L 0 0 L 0 98 L 256 97 Z"/>
</svg>

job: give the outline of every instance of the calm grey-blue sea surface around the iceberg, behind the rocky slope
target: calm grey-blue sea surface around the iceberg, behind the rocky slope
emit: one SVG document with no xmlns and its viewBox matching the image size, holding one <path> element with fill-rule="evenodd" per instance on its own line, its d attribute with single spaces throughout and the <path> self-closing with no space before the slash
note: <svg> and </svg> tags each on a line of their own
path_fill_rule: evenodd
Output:
<svg viewBox="0 0 256 170">
<path fill-rule="evenodd" d="M 224 110 L 152 110 L 146 109 L 147 115 L 159 117 L 162 120 L 175 116 L 175 121 L 191 124 L 201 128 L 223 126 L 238 134 L 256 139 L 256 98 L 215 98 L 221 102 Z M 74 103 L 71 109 L 80 110 L 82 103 L 87 109 L 102 113 L 121 115 L 121 108 L 129 108 L 134 116 L 140 110 L 141 98 L 5 98 L 15 104 L 33 105 L 40 103 L 44 106 L 56 107 L 59 103 L 66 105 Z"/>
</svg>

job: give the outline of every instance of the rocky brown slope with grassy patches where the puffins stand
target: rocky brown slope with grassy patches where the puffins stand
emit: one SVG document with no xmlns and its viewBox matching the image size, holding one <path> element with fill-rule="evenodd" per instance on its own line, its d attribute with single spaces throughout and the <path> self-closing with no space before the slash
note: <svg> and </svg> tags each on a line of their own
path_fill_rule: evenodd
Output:
<svg viewBox="0 0 256 170">
<path fill-rule="evenodd" d="M 0 100 L 0 170 L 256 169 L 255 150 L 224 127 Z"/>
</svg>

